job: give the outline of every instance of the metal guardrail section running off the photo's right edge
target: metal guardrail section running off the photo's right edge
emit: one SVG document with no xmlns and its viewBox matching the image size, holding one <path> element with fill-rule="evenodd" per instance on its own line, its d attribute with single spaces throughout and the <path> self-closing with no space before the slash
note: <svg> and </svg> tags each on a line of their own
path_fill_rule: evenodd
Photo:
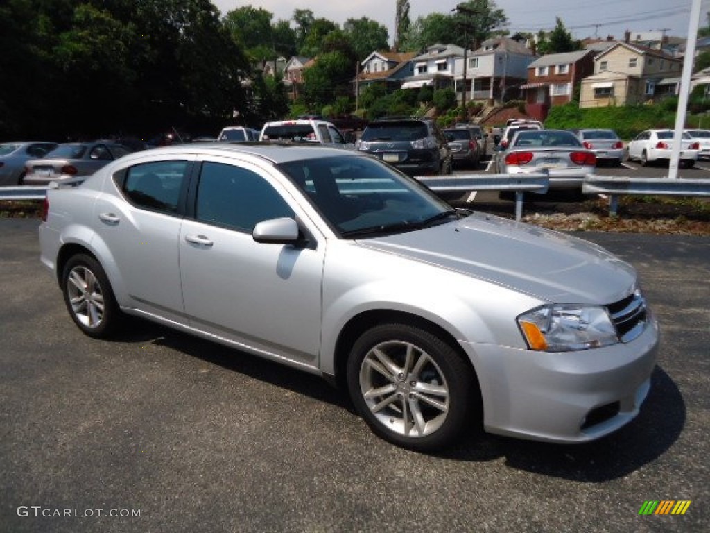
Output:
<svg viewBox="0 0 710 533">
<path fill-rule="evenodd" d="M 581 191 L 584 194 L 609 195 L 609 215 L 616 216 L 618 197 L 621 195 L 710 196 L 710 180 L 587 174 Z"/>
</svg>

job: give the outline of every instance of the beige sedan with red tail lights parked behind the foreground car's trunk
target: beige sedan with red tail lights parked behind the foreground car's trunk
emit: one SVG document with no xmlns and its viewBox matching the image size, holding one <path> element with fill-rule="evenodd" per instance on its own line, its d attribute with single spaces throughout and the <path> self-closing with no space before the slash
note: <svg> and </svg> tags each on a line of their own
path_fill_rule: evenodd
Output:
<svg viewBox="0 0 710 533">
<path fill-rule="evenodd" d="M 131 154 L 121 144 L 104 142 L 60 144 L 42 159 L 25 163 L 25 185 L 47 185 L 78 176 L 89 176 L 114 159 Z"/>
</svg>

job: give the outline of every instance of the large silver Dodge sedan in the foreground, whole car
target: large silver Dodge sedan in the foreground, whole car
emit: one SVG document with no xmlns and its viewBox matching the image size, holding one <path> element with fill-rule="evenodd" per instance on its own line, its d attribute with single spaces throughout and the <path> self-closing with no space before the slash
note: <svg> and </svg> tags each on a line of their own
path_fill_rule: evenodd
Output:
<svg viewBox="0 0 710 533">
<path fill-rule="evenodd" d="M 129 314 L 320 375 L 399 446 L 476 426 L 591 441 L 650 389 L 658 330 L 629 264 L 453 210 L 373 156 L 155 149 L 50 189 L 46 213 L 41 260 L 87 335 Z"/>
</svg>

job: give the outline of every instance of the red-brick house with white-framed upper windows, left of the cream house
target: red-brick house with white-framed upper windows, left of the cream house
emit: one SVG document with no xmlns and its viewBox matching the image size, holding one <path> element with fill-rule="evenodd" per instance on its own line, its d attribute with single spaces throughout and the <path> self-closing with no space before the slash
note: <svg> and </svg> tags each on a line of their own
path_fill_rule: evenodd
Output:
<svg viewBox="0 0 710 533">
<path fill-rule="evenodd" d="M 525 113 L 545 120 L 550 107 L 572 102 L 574 88 L 594 73 L 594 51 L 547 54 L 528 65 L 528 82 L 521 85 Z"/>
</svg>

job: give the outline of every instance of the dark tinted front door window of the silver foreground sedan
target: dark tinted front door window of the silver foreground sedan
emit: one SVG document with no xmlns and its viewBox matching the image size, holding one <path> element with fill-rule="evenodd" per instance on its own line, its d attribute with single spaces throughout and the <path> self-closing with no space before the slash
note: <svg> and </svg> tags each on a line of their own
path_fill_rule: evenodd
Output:
<svg viewBox="0 0 710 533">
<path fill-rule="evenodd" d="M 293 217 L 279 193 L 258 174 L 233 165 L 204 163 L 197 188 L 197 220 L 251 232 L 263 220 Z"/>
</svg>

